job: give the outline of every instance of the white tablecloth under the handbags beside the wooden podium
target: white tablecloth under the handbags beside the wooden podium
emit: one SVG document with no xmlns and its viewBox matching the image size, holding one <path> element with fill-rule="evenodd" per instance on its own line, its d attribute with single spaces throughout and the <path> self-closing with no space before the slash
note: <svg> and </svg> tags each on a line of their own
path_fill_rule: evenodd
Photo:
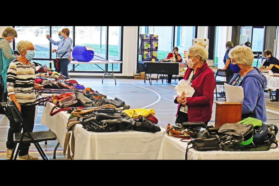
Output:
<svg viewBox="0 0 279 186">
<path fill-rule="evenodd" d="M 189 141 L 189 140 L 187 140 Z M 190 146 L 189 146 L 190 147 Z M 180 138 L 164 136 L 158 160 L 185 160 L 187 142 Z M 188 160 L 279 160 L 279 147 L 269 151 L 229 152 L 229 151 L 197 151 L 189 149 Z"/>
</svg>

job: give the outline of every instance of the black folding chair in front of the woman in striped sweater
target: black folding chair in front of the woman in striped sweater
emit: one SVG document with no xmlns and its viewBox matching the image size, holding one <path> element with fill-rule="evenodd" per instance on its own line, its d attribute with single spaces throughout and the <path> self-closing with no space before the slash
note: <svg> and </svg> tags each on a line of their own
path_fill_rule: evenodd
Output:
<svg viewBox="0 0 279 186">
<path fill-rule="evenodd" d="M 26 123 L 25 119 L 22 117 L 21 112 L 18 110 L 17 106 L 15 105 L 15 102 L 11 101 L 10 103 L 8 103 L 8 107 L 10 108 L 15 121 L 21 122 L 19 133 L 14 134 L 15 145 L 12 150 L 12 155 L 10 160 L 12 160 L 13 158 L 17 144 L 19 144 L 18 146 L 20 146 L 24 142 L 33 143 L 36 149 L 38 150 L 38 152 L 40 153 L 41 157 L 43 158 L 43 160 L 48 160 L 39 142 L 56 140 L 57 138 L 56 134 L 52 131 L 31 132 L 28 124 Z M 21 133 L 22 128 L 23 128 L 23 132 Z M 18 152 L 19 152 L 19 148 L 17 148 L 17 151 L 15 153 L 15 160 L 17 159 Z"/>
</svg>

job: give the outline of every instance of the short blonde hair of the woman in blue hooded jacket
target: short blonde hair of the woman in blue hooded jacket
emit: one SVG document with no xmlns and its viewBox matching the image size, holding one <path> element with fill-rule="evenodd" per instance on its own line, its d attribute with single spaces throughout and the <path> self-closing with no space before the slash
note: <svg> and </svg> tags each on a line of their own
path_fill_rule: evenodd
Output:
<svg viewBox="0 0 279 186">
<path fill-rule="evenodd" d="M 229 57 L 235 59 L 238 64 L 244 64 L 245 66 L 251 66 L 254 60 L 254 54 L 250 47 L 245 45 L 236 46 L 229 52 Z"/>
</svg>

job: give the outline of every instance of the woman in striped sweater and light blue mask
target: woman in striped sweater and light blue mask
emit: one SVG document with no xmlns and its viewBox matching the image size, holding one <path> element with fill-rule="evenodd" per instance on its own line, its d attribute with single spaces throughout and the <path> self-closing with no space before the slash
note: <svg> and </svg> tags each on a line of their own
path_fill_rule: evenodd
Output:
<svg viewBox="0 0 279 186">
<path fill-rule="evenodd" d="M 35 90 L 39 84 L 35 82 L 35 64 L 30 62 L 35 56 L 35 49 L 30 41 L 19 41 L 17 51 L 20 57 L 10 63 L 7 73 L 7 90 L 9 101 L 14 101 L 21 111 L 28 126 L 33 130 L 35 119 Z M 8 108 L 9 109 L 9 108 Z M 10 128 L 8 141 L 6 142 L 6 158 L 10 159 L 14 147 L 13 134 L 19 131 L 20 122 L 15 122 L 12 112 L 9 110 Z M 28 154 L 30 143 L 19 146 L 19 160 L 37 160 Z"/>
</svg>

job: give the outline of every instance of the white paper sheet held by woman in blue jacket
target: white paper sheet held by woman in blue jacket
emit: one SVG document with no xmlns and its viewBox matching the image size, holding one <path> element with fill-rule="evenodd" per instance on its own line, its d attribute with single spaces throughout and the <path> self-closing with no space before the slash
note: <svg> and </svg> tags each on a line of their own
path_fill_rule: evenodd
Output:
<svg viewBox="0 0 279 186">
<path fill-rule="evenodd" d="M 225 83 L 225 92 L 227 102 L 243 102 L 244 92 L 241 86 L 232 86 Z"/>
</svg>

